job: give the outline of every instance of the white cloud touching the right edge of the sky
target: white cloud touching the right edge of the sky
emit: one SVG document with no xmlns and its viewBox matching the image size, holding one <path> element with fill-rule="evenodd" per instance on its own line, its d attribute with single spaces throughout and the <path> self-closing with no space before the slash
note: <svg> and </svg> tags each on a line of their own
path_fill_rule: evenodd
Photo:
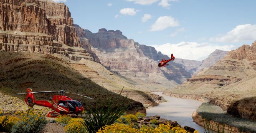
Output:
<svg viewBox="0 0 256 133">
<path fill-rule="evenodd" d="M 256 25 L 238 25 L 236 28 L 223 36 L 211 37 L 212 42 L 236 43 L 243 41 L 254 41 L 256 39 Z"/>
</svg>

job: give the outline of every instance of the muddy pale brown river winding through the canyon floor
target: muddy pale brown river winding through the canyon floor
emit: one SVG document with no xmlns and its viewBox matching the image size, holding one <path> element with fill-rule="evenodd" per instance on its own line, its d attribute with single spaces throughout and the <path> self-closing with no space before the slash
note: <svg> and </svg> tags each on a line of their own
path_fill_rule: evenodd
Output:
<svg viewBox="0 0 256 133">
<path fill-rule="evenodd" d="M 178 121 L 180 126 L 189 126 L 204 133 L 205 129 L 193 122 L 192 113 L 202 104 L 201 101 L 195 101 L 191 99 L 180 99 L 176 97 L 163 95 L 162 92 L 154 92 L 155 94 L 162 96 L 167 102 L 160 103 L 159 106 L 148 108 L 147 116 L 160 116 L 171 121 Z"/>
</svg>

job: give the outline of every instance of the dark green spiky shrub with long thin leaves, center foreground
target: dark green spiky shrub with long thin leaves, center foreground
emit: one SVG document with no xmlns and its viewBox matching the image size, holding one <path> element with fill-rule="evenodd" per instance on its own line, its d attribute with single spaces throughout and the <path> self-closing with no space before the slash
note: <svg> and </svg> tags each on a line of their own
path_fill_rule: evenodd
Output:
<svg viewBox="0 0 256 133">
<path fill-rule="evenodd" d="M 89 133 L 96 133 L 101 127 L 113 124 L 128 109 L 128 99 L 127 97 L 121 99 L 121 93 L 115 101 L 111 98 L 101 104 L 96 102 L 94 108 L 87 107 L 88 111 L 83 116 L 83 125 Z"/>
</svg>

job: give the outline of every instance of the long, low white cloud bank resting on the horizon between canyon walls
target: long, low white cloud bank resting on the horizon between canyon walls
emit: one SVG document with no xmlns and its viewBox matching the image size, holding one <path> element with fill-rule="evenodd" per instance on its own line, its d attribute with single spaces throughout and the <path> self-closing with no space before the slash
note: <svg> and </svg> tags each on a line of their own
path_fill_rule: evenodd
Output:
<svg viewBox="0 0 256 133">
<path fill-rule="evenodd" d="M 155 47 L 157 51 L 162 52 L 170 57 L 173 53 L 174 57 L 190 60 L 199 60 L 207 58 L 210 53 L 215 51 L 215 49 L 221 49 L 225 51 L 230 51 L 235 49 L 233 45 L 216 45 L 209 43 L 197 43 L 197 42 L 180 42 L 178 44 L 162 44 L 162 45 L 151 45 Z"/>
</svg>

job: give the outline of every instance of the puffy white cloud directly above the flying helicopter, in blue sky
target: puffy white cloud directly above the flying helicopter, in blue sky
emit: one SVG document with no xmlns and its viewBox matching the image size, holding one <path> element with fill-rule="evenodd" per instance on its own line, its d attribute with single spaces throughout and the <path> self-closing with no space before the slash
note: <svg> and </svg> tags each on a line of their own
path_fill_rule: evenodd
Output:
<svg viewBox="0 0 256 133">
<path fill-rule="evenodd" d="M 150 31 L 165 30 L 167 27 L 179 26 L 179 22 L 170 16 L 161 16 L 151 25 Z"/>
</svg>

